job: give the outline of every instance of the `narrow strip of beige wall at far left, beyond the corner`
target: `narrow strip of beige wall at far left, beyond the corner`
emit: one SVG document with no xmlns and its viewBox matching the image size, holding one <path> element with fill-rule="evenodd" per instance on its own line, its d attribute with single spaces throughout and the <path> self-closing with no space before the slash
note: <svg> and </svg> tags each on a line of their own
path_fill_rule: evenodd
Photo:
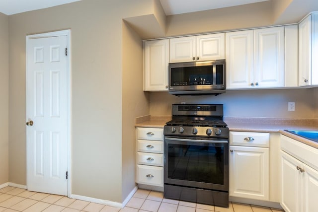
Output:
<svg viewBox="0 0 318 212">
<path fill-rule="evenodd" d="M 8 16 L 0 13 L 0 185 L 8 182 L 9 126 Z"/>
</svg>

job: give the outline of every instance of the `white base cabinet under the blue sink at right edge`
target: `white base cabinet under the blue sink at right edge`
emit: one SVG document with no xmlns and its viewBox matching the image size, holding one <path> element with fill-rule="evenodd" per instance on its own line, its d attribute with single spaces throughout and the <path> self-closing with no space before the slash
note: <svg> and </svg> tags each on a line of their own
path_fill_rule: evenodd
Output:
<svg viewBox="0 0 318 212">
<path fill-rule="evenodd" d="M 317 211 L 318 149 L 281 136 L 281 206 L 286 212 Z"/>
</svg>

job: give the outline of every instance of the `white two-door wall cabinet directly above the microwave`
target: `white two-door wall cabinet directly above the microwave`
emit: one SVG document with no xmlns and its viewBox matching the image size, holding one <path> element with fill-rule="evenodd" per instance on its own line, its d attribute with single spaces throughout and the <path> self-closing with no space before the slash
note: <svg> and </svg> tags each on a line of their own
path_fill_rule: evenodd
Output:
<svg viewBox="0 0 318 212">
<path fill-rule="evenodd" d="M 170 63 L 225 59 L 225 33 L 170 39 Z"/>
</svg>

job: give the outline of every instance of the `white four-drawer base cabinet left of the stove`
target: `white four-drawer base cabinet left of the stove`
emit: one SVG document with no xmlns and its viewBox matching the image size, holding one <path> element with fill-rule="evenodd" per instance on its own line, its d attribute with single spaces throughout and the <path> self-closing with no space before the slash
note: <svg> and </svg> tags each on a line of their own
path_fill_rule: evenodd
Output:
<svg viewBox="0 0 318 212">
<path fill-rule="evenodd" d="M 137 128 L 136 132 L 137 183 L 141 188 L 163 191 L 163 129 Z"/>
</svg>

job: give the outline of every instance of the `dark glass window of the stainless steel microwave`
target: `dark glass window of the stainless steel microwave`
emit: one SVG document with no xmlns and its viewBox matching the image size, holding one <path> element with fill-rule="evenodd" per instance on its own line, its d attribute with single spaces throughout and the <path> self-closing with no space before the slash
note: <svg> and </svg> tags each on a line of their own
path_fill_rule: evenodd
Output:
<svg viewBox="0 0 318 212">
<path fill-rule="evenodd" d="M 213 66 L 171 68 L 172 86 L 212 84 Z"/>
</svg>

